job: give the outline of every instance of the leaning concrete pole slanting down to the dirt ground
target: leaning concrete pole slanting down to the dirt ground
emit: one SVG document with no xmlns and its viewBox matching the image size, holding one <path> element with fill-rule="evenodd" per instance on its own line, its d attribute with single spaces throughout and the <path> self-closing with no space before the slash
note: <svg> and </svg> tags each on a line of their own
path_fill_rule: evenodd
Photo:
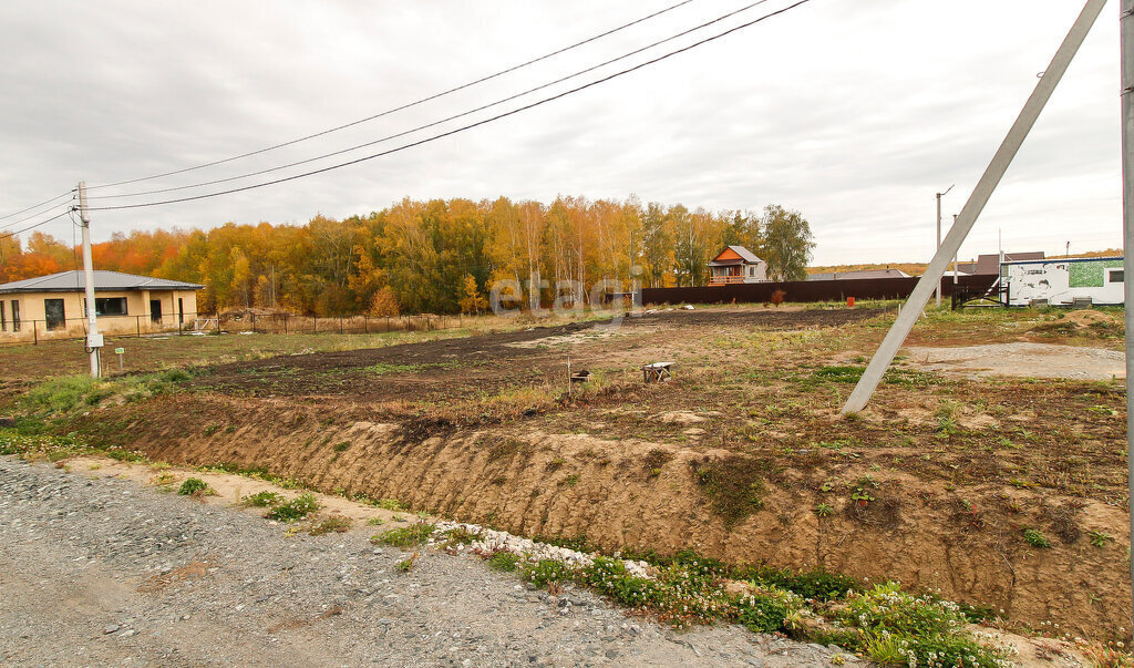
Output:
<svg viewBox="0 0 1134 668">
<path fill-rule="evenodd" d="M 988 169 L 984 170 L 981 180 L 976 183 L 973 194 L 968 196 L 965 208 L 957 215 L 957 223 L 946 235 L 941 247 L 937 250 L 933 260 L 925 268 L 925 273 L 917 281 L 913 294 L 909 295 L 909 299 L 906 302 L 905 308 L 902 310 L 902 314 L 898 315 L 890 331 L 887 332 L 882 345 L 874 353 L 874 357 L 870 361 L 870 365 L 866 366 L 866 371 L 863 372 L 862 379 L 858 380 L 858 384 L 850 392 L 850 398 L 843 406 L 843 413 L 855 413 L 866 407 L 870 398 L 874 395 L 874 390 L 878 388 L 878 383 L 882 380 L 882 374 L 886 373 L 890 363 L 894 362 L 894 356 L 898 354 L 898 348 L 905 343 L 909 330 L 917 322 L 917 316 L 925 308 L 925 304 L 933 294 L 933 289 L 941 285 L 941 277 L 945 276 L 945 268 L 948 267 L 949 259 L 960 251 L 960 244 L 968 236 L 968 230 L 973 228 L 976 218 L 980 217 L 981 211 L 984 210 L 984 205 L 988 204 L 989 197 L 992 196 L 1000 179 L 1004 178 L 1004 174 L 1008 170 L 1008 166 L 1012 164 L 1013 158 L 1016 157 L 1019 146 L 1024 143 L 1024 138 L 1027 137 L 1027 133 L 1035 125 L 1035 119 L 1043 111 L 1043 107 L 1051 99 L 1051 93 L 1056 90 L 1056 85 L 1059 84 L 1059 79 L 1063 78 L 1064 73 L 1067 71 L 1067 66 L 1070 65 L 1075 53 L 1078 52 L 1078 48 L 1083 44 L 1083 40 L 1086 39 L 1086 34 L 1091 31 L 1091 26 L 1094 25 L 1094 20 L 1099 18 L 1099 14 L 1106 3 L 1107 0 L 1088 0 L 1086 7 L 1083 8 L 1083 12 L 1080 14 L 1075 20 L 1075 25 L 1072 26 L 1067 37 L 1059 46 L 1059 51 L 1056 52 L 1051 65 L 1048 66 L 1047 71 L 1040 77 L 1040 83 L 1035 86 L 1035 91 L 1032 92 L 1032 96 L 1024 104 L 1024 110 L 1019 113 L 1019 118 L 1016 119 L 1012 129 L 1008 130 L 1008 136 L 1000 144 L 1000 149 L 992 157 L 992 161 L 989 163 Z"/>
</svg>

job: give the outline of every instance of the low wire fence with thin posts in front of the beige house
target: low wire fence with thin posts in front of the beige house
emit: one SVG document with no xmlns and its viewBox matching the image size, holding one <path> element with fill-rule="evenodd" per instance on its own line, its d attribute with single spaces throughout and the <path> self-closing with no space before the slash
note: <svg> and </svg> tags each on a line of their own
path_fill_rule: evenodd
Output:
<svg viewBox="0 0 1134 668">
<path fill-rule="evenodd" d="M 294 313 L 100 315 L 99 331 L 108 337 L 264 335 L 367 335 L 388 331 L 433 331 L 463 327 L 463 315 L 296 315 Z M 0 325 L 0 346 L 86 338 L 85 318 L 7 320 Z"/>
</svg>

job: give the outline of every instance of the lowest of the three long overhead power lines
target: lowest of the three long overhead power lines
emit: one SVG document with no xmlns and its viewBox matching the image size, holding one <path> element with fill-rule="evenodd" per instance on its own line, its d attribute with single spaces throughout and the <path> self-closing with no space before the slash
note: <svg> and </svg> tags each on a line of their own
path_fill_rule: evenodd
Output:
<svg viewBox="0 0 1134 668">
<path fill-rule="evenodd" d="M 117 210 L 122 210 L 122 209 L 142 209 L 144 206 L 159 206 L 159 205 L 163 205 L 163 204 L 177 204 L 177 203 L 180 203 L 180 202 L 193 202 L 193 201 L 196 201 L 196 200 L 206 200 L 206 198 L 217 197 L 217 196 L 220 196 L 220 195 L 230 195 L 232 193 L 240 193 L 240 192 L 244 192 L 244 191 L 253 191 L 253 189 L 256 189 L 256 188 L 263 188 L 263 187 L 266 187 L 266 186 L 272 186 L 272 185 L 277 185 L 277 184 L 281 184 L 281 183 L 287 183 L 287 181 L 291 181 L 291 180 L 305 178 L 305 177 L 308 177 L 308 176 L 314 176 L 314 175 L 318 175 L 318 174 L 323 174 L 323 172 L 331 171 L 331 170 L 335 170 L 335 169 L 340 169 L 340 168 L 344 168 L 344 167 L 349 167 L 352 164 L 358 164 L 359 162 L 366 162 L 367 160 L 373 160 L 375 158 L 381 158 L 383 155 L 389 155 L 391 153 L 398 153 L 400 151 L 405 151 L 405 150 L 412 149 L 414 146 L 421 146 L 422 144 L 428 144 L 428 143 L 431 143 L 431 142 L 435 142 L 437 139 L 440 139 L 440 138 L 443 138 L 443 137 L 448 137 L 448 136 L 451 136 L 451 135 L 456 135 L 456 134 L 459 134 L 459 133 L 463 133 L 463 132 L 466 132 L 466 130 L 480 127 L 482 125 L 488 125 L 490 122 L 500 120 L 502 118 L 507 118 L 509 116 L 515 116 L 516 113 L 519 113 L 522 111 L 527 111 L 528 109 L 534 109 L 536 107 L 541 107 L 543 104 L 547 104 L 548 102 L 552 102 L 555 100 L 559 100 L 560 98 L 566 98 L 567 95 L 572 95 L 574 93 L 578 93 L 579 91 L 585 91 L 586 88 L 590 88 L 590 87 L 596 86 L 599 84 L 609 82 L 611 79 L 618 78 L 618 77 L 620 77 L 623 75 L 626 75 L 626 74 L 629 74 L 632 71 L 636 71 L 636 70 L 642 69 L 644 67 L 649 67 L 650 65 L 654 65 L 657 62 L 660 62 L 662 60 L 666 60 L 666 59 L 671 58 L 674 56 L 677 56 L 679 53 L 684 53 L 686 51 L 689 51 L 692 49 L 695 49 L 695 48 L 701 46 L 703 44 L 706 44 L 709 42 L 713 42 L 716 40 L 719 40 L 719 39 L 726 36 L 726 35 L 730 35 L 730 34 L 733 34 L 733 33 L 735 33 L 737 31 L 741 31 L 741 29 L 744 29 L 746 27 L 753 26 L 755 24 L 762 23 L 762 22 L 764 22 L 764 20 L 767 20 L 769 18 L 772 18 L 775 16 L 779 16 L 781 14 L 790 11 L 790 10 L 795 9 L 796 7 L 799 7 L 801 5 L 806 5 L 811 0 L 798 0 L 797 2 L 795 2 L 793 5 L 789 5 L 789 6 L 784 7 L 781 9 L 777 9 L 776 11 L 765 14 L 765 15 L 759 17 L 759 18 L 755 18 L 755 19 L 750 20 L 747 23 L 743 23 L 743 24 L 741 24 L 738 26 L 731 27 L 731 28 L 729 28 L 729 29 L 727 29 L 727 31 L 725 31 L 722 33 L 718 33 L 718 34 L 712 35 L 710 37 L 705 37 L 703 40 L 700 40 L 697 42 L 694 42 L 692 44 L 688 44 L 686 46 L 677 49 L 675 51 L 670 51 L 669 53 L 663 53 L 661 56 L 658 56 L 657 58 L 653 58 L 651 60 L 646 60 L 644 62 L 635 65 L 634 67 L 629 67 L 627 69 L 624 69 L 624 70 L 617 71 L 615 74 L 608 75 L 608 76 L 606 76 L 603 78 L 593 81 L 593 82 L 587 83 L 587 84 L 583 84 L 582 86 L 572 88 L 569 91 L 565 91 L 562 93 L 558 93 L 556 95 L 551 95 L 550 98 L 544 98 L 543 100 L 539 100 L 536 102 L 532 102 L 530 104 L 525 104 L 524 107 L 518 107 L 516 109 L 513 109 L 511 111 L 506 111 L 503 113 L 498 113 L 497 116 L 493 116 L 491 118 L 486 118 L 484 120 L 479 120 L 476 122 L 472 122 L 472 124 L 468 124 L 466 126 L 462 126 L 459 128 L 455 128 L 455 129 L 451 129 L 451 130 L 448 130 L 448 132 L 445 132 L 445 133 L 440 133 L 440 134 L 433 135 L 431 137 L 425 137 L 424 139 L 418 139 L 416 142 L 411 142 L 408 144 L 403 144 L 401 146 L 397 146 L 395 149 L 389 149 L 387 151 L 381 151 L 379 153 L 373 153 L 371 155 L 364 155 L 362 158 L 356 158 L 354 160 L 348 160 L 347 162 L 340 162 L 338 164 L 331 164 L 329 167 L 323 167 L 323 168 L 320 168 L 320 169 L 313 169 L 311 171 L 305 171 L 305 172 L 296 174 L 296 175 L 288 176 L 288 177 L 282 177 L 282 178 L 278 178 L 278 179 L 273 179 L 273 180 L 269 180 L 269 181 L 263 181 L 263 183 L 260 183 L 260 184 L 253 184 L 253 185 L 249 185 L 249 186 L 242 186 L 242 187 L 238 187 L 238 188 L 229 188 L 227 191 L 218 191 L 218 192 L 214 192 L 214 193 L 205 193 L 203 195 L 193 195 L 193 196 L 189 196 L 189 197 L 178 197 L 178 198 L 175 198 L 175 200 L 163 200 L 163 201 L 159 201 L 159 202 L 144 202 L 144 203 L 141 203 L 141 204 L 119 204 L 119 205 L 113 205 L 113 206 L 91 206 L 88 209 L 88 211 L 117 211 Z"/>
</svg>

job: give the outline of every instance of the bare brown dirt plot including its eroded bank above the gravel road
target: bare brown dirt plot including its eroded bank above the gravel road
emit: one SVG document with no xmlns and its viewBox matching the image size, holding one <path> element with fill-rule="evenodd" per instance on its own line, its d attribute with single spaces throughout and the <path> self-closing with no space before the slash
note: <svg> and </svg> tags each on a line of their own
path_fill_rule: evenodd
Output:
<svg viewBox="0 0 1134 668">
<path fill-rule="evenodd" d="M 1112 315 L 1068 318 L 931 313 L 911 346 L 1120 347 Z M 1125 635 L 1123 384 L 971 378 L 911 356 L 868 411 L 841 417 L 891 321 L 699 308 L 613 331 L 254 360 L 204 371 L 191 391 L 105 401 L 66 429 L 523 535 L 823 566 L 990 604 L 1021 627 Z M 570 392 L 568 355 L 595 374 Z M 642 383 L 655 361 L 676 363 L 672 382 Z"/>
</svg>

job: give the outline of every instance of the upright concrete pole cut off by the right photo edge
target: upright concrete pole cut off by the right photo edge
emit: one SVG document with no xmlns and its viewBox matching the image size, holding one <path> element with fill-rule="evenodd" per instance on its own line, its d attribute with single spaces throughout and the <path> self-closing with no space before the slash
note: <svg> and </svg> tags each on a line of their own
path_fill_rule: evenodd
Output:
<svg viewBox="0 0 1134 668">
<path fill-rule="evenodd" d="M 1134 0 L 1119 2 L 1119 34 L 1122 35 L 1123 70 L 1123 294 L 1126 304 L 1126 463 L 1129 468 L 1128 500 L 1134 500 Z M 1069 248 L 1069 245 L 1068 245 Z M 1131 540 L 1134 541 L 1134 508 L 1131 508 Z M 1131 578 L 1134 582 L 1134 560 L 1131 561 Z M 1134 592 L 1132 592 L 1134 594 Z M 1134 599 L 1132 599 L 1134 603 Z"/>
</svg>

